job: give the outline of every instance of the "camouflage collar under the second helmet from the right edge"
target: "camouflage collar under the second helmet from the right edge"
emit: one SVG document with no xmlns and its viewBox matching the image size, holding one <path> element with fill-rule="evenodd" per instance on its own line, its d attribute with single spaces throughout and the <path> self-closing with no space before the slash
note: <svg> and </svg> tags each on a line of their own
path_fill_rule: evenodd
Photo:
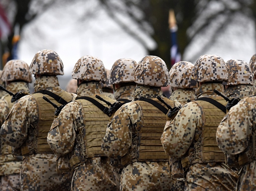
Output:
<svg viewBox="0 0 256 191">
<path fill-rule="evenodd" d="M 243 99 L 253 95 L 253 86 L 244 84 L 228 86 L 228 88 L 225 89 L 224 94 L 228 98 Z"/>
</svg>

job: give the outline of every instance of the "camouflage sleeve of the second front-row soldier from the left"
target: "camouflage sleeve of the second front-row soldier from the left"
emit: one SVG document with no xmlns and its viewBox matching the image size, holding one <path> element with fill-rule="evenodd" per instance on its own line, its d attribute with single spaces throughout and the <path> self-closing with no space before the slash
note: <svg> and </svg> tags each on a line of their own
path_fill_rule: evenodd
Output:
<svg viewBox="0 0 256 191">
<path fill-rule="evenodd" d="M 58 117 L 54 118 L 47 136 L 47 142 L 57 155 L 65 155 L 73 150 L 76 130 L 83 125 L 82 111 L 77 102 L 63 107 Z"/>
</svg>

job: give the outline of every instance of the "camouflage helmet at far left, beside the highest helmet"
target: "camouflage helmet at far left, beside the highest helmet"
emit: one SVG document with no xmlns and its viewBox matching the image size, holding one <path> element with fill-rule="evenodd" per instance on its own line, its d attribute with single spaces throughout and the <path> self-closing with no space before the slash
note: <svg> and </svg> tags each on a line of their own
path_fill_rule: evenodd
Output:
<svg viewBox="0 0 256 191">
<path fill-rule="evenodd" d="M 23 80 L 31 83 L 32 76 L 29 72 L 29 66 L 23 60 L 10 60 L 8 61 L 2 71 L 2 81 Z"/>
</svg>

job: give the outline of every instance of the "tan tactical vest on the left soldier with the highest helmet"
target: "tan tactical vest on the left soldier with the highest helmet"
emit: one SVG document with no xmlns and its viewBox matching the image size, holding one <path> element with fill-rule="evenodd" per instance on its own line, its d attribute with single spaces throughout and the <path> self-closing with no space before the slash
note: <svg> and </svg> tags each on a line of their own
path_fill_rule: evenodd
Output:
<svg viewBox="0 0 256 191">
<path fill-rule="evenodd" d="M 55 93 L 56 95 L 60 96 L 67 102 L 72 100 L 72 95 L 68 92 L 62 91 Z M 53 153 L 52 149 L 47 143 L 47 135 L 51 128 L 53 119 L 54 119 L 54 112 L 56 108 L 54 108 L 50 103 L 45 101 L 43 99 L 43 96 L 50 99 L 53 103 L 55 103 L 58 106 L 61 106 L 60 103 L 58 103 L 55 99 L 53 99 L 51 96 L 48 96 L 46 94 L 42 93 L 34 93 L 31 94 L 36 100 L 37 108 L 38 108 L 38 124 L 36 127 L 30 127 L 35 129 L 34 131 L 34 140 L 32 145 L 33 148 L 28 145 L 21 146 L 21 153 L 22 155 L 26 154 L 32 154 L 32 153 Z"/>
</svg>

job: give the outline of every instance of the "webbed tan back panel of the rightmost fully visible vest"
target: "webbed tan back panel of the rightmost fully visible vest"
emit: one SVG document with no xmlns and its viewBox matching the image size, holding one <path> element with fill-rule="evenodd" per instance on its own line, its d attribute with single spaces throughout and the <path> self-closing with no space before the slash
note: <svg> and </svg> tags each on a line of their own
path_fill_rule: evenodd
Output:
<svg viewBox="0 0 256 191">
<path fill-rule="evenodd" d="M 227 102 L 216 100 L 222 105 Z M 196 101 L 202 111 L 202 141 L 201 141 L 201 159 L 203 162 L 225 162 L 225 154 L 219 149 L 216 141 L 217 128 L 222 121 L 225 113 L 213 104 L 206 101 Z"/>
</svg>

